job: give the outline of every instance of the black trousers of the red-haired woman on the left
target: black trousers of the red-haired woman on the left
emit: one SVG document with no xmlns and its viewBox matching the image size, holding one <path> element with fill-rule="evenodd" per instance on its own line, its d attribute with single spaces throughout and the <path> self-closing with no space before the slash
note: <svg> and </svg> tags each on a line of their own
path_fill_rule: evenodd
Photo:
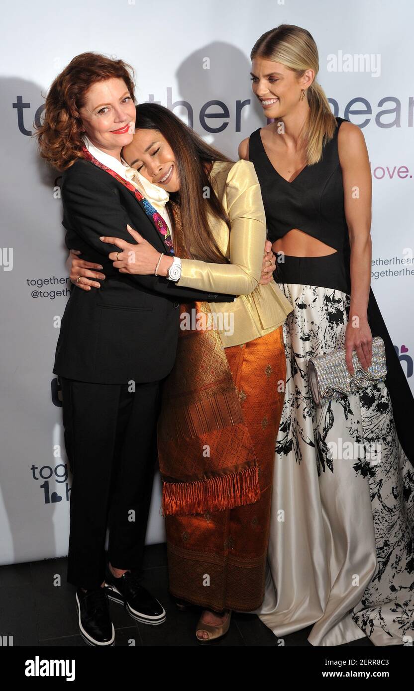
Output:
<svg viewBox="0 0 414 691">
<path fill-rule="evenodd" d="M 117 569 L 141 569 L 153 475 L 160 382 L 89 384 L 59 377 L 66 454 L 73 474 L 67 580 L 86 589 L 105 577 L 105 539 Z"/>
</svg>

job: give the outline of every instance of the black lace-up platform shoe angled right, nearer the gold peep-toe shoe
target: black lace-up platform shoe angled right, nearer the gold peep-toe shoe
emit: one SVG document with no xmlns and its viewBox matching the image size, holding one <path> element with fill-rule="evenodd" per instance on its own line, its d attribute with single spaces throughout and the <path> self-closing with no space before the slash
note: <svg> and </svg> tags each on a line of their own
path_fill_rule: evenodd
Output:
<svg viewBox="0 0 414 691">
<path fill-rule="evenodd" d="M 113 576 L 106 565 L 105 587 L 113 602 L 124 605 L 132 618 L 142 624 L 158 625 L 165 621 L 165 609 L 143 585 L 138 571 L 125 571 L 120 578 Z"/>
</svg>

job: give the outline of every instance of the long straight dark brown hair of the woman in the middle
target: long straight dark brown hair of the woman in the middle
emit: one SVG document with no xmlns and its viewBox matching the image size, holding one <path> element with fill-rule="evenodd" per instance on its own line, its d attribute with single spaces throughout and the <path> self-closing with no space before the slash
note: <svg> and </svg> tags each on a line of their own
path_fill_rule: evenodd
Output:
<svg viewBox="0 0 414 691">
<path fill-rule="evenodd" d="M 156 103 L 142 103 L 136 106 L 136 113 L 135 127 L 160 132 L 171 146 L 176 158 L 180 189 L 171 193 L 170 198 L 180 205 L 182 234 L 189 256 L 211 263 L 228 263 L 209 226 L 207 214 L 224 220 L 230 228 L 229 218 L 209 180 L 208 164 L 214 161 L 229 163 L 234 163 L 234 161 L 214 149 L 214 146 L 203 142 L 190 127 L 164 106 Z M 206 188 L 209 190 L 208 198 L 203 196 L 203 190 Z M 170 216 L 174 238 L 175 223 L 173 214 Z M 190 252 L 190 247 L 193 248 L 192 252 Z"/>
</svg>

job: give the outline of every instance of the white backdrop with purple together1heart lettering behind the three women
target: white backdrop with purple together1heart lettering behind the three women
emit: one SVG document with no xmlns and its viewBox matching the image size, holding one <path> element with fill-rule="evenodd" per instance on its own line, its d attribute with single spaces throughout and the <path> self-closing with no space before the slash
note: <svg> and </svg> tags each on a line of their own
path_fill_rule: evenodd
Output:
<svg viewBox="0 0 414 691">
<path fill-rule="evenodd" d="M 67 554 L 70 478 L 52 372 L 67 252 L 58 173 L 41 162 L 30 134 L 48 86 L 78 53 L 131 63 L 138 102 L 173 108 L 236 159 L 238 143 L 265 124 L 250 84 L 254 42 L 283 22 L 310 30 L 335 115 L 363 126 L 373 170 L 373 291 L 413 387 L 411 0 L 22 0 L 3 5 L 2 19 L 1 564 Z M 158 481 L 149 543 L 164 540 L 159 507 Z"/>
</svg>

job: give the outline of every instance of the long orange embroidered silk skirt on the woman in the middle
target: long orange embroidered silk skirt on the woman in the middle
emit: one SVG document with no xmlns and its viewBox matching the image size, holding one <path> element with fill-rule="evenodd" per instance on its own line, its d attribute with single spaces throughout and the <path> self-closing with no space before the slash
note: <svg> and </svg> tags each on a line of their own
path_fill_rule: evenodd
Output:
<svg viewBox="0 0 414 691">
<path fill-rule="evenodd" d="M 258 461 L 260 499 L 203 515 L 167 515 L 169 590 L 220 612 L 257 609 L 265 591 L 274 448 L 283 407 L 282 327 L 225 348 Z"/>
</svg>

